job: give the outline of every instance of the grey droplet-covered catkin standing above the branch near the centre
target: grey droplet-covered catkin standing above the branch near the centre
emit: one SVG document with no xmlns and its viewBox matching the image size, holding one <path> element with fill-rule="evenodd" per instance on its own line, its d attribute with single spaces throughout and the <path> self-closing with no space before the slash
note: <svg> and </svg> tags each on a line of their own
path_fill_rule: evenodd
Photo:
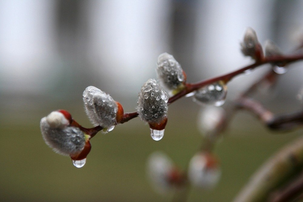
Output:
<svg viewBox="0 0 303 202">
<path fill-rule="evenodd" d="M 185 87 L 186 74 L 178 61 L 168 53 L 159 55 L 157 75 L 160 84 L 170 95 L 177 94 Z"/>
</svg>

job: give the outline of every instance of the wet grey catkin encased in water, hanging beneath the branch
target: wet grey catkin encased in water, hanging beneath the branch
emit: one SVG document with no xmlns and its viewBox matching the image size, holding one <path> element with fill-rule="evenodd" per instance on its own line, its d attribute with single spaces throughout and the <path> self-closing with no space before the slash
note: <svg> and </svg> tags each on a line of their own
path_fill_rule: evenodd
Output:
<svg viewBox="0 0 303 202">
<path fill-rule="evenodd" d="M 198 101 L 202 104 L 212 104 L 218 107 L 225 103 L 226 94 L 227 86 L 223 81 L 219 81 L 196 91 L 193 101 Z"/>
</svg>

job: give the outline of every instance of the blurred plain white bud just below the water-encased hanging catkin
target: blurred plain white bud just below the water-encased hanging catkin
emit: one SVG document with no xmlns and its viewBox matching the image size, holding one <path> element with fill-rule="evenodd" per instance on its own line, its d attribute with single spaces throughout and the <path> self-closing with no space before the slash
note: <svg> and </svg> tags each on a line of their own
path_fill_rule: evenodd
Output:
<svg viewBox="0 0 303 202">
<path fill-rule="evenodd" d="M 202 134 L 213 139 L 225 127 L 226 117 L 223 108 L 206 106 L 199 113 L 198 128 Z"/>
</svg>

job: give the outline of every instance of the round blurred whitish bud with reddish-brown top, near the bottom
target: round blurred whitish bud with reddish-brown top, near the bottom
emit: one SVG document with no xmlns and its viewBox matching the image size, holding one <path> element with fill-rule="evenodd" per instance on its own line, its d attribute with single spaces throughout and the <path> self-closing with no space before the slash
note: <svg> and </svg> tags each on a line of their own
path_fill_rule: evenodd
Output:
<svg viewBox="0 0 303 202">
<path fill-rule="evenodd" d="M 213 154 L 201 152 L 191 158 L 188 168 L 191 184 L 201 188 L 212 188 L 217 184 L 220 176 L 218 160 Z"/>
</svg>

